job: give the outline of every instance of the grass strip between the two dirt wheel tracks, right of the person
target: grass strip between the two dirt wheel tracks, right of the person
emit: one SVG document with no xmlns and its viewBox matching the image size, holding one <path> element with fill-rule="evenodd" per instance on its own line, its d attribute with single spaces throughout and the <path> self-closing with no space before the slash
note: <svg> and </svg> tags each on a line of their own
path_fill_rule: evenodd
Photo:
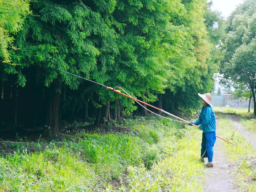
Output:
<svg viewBox="0 0 256 192">
<path fill-rule="evenodd" d="M 234 165 L 237 165 L 234 172 L 237 181 L 235 187 L 239 187 L 240 191 L 256 191 L 255 148 L 236 131 L 230 119 L 224 114 L 218 114 L 218 116 L 220 117 L 217 123 L 219 134 L 237 144 L 234 147 L 228 143 L 223 143 L 223 150 L 225 150 L 227 157 Z"/>
</svg>

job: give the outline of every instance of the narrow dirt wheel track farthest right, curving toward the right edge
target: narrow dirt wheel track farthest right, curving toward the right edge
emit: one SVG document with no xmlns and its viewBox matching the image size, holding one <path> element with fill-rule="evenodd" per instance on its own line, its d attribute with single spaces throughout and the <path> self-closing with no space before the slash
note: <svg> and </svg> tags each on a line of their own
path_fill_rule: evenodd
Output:
<svg viewBox="0 0 256 192">
<path fill-rule="evenodd" d="M 246 139 L 248 143 L 250 143 L 255 149 L 256 149 L 256 138 L 255 136 L 250 133 L 247 129 L 245 129 L 240 123 L 239 120 L 237 119 L 236 116 L 228 114 L 227 117 L 229 117 L 233 124 L 236 126 L 237 131 L 241 133 L 242 136 Z"/>
</svg>

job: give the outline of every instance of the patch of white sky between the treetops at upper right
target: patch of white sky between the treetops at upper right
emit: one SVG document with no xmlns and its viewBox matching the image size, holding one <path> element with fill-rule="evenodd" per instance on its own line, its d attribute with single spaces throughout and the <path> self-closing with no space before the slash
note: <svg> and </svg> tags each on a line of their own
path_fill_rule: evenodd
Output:
<svg viewBox="0 0 256 192">
<path fill-rule="evenodd" d="M 210 1 L 210 0 L 208 0 Z M 212 0 L 213 4 L 211 10 L 217 10 L 222 12 L 222 16 L 227 18 L 232 11 L 234 11 L 240 3 L 244 0 Z"/>
</svg>

